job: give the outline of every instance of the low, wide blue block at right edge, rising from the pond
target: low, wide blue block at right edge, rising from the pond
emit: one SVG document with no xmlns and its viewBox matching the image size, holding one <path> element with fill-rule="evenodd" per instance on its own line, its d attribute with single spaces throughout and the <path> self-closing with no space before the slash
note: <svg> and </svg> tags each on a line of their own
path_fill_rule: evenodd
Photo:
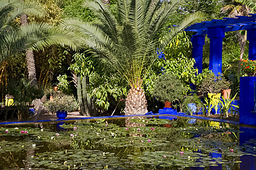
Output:
<svg viewBox="0 0 256 170">
<path fill-rule="evenodd" d="M 240 77 L 239 122 L 256 126 L 256 77 Z"/>
</svg>

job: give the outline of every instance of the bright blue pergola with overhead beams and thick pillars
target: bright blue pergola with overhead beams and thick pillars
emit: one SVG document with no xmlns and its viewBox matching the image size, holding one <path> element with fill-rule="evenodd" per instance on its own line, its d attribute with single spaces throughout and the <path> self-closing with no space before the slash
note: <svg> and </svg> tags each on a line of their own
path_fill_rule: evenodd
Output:
<svg viewBox="0 0 256 170">
<path fill-rule="evenodd" d="M 236 16 L 235 18 L 212 19 L 212 21 L 203 21 L 195 23 L 185 28 L 185 31 L 196 32 L 192 36 L 192 56 L 196 60 L 195 67 L 202 73 L 203 65 L 203 45 L 205 44 L 205 35 L 210 38 L 210 61 L 209 69 L 217 75 L 222 73 L 222 41 L 225 32 L 235 30 L 247 30 L 247 39 L 249 40 L 248 58 L 256 59 L 256 15 Z"/>
</svg>

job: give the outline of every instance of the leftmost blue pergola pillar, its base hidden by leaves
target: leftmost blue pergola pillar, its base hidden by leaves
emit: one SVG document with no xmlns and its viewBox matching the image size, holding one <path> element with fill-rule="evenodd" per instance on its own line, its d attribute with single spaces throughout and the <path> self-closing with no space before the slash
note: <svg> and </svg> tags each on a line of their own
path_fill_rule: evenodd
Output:
<svg viewBox="0 0 256 170">
<path fill-rule="evenodd" d="M 205 44 L 205 35 L 193 35 L 191 42 L 193 46 L 192 57 L 196 61 L 194 68 L 197 68 L 200 74 L 203 70 L 203 45 Z"/>
</svg>

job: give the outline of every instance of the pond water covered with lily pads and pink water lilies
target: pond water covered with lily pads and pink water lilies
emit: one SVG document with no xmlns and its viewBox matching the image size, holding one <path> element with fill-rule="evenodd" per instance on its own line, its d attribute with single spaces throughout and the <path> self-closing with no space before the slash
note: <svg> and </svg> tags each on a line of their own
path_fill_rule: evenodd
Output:
<svg viewBox="0 0 256 170">
<path fill-rule="evenodd" d="M 188 118 L 0 128 L 1 169 L 256 169 L 256 130 Z"/>
</svg>

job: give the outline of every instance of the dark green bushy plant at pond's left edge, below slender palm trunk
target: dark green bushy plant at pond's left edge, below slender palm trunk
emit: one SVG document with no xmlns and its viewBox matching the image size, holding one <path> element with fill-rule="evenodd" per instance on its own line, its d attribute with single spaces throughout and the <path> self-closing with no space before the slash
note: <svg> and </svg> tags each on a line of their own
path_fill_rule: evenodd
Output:
<svg viewBox="0 0 256 170">
<path fill-rule="evenodd" d="M 44 91 L 38 86 L 30 86 L 26 79 L 19 81 L 11 80 L 7 86 L 8 94 L 14 97 L 14 104 L 18 110 L 18 120 L 28 120 L 30 108 L 33 100 L 43 97 Z"/>
</svg>

